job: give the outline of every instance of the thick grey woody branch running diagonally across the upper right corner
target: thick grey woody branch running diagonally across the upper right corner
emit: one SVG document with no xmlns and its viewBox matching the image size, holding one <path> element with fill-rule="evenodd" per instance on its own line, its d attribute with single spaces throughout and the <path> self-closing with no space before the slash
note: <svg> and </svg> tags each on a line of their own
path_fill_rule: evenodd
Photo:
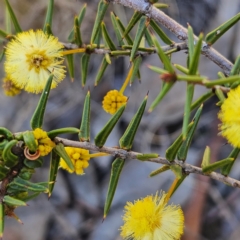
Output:
<svg viewBox="0 0 240 240">
<path fill-rule="evenodd" d="M 171 31 L 178 39 L 187 40 L 187 29 L 177 23 L 172 18 L 168 17 L 164 12 L 151 5 L 148 1 L 144 0 L 111 0 L 112 3 L 117 3 L 128 8 L 133 8 L 142 12 L 146 16 L 159 22 L 169 31 Z M 198 38 L 195 36 L 195 39 Z M 222 68 L 226 76 L 229 76 L 233 64 L 217 52 L 214 48 L 203 43 L 202 54 Z"/>
</svg>

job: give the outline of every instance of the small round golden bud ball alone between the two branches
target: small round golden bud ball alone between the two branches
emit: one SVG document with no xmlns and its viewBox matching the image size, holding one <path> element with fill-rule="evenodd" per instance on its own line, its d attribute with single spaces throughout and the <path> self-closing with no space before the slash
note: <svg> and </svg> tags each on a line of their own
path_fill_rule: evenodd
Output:
<svg viewBox="0 0 240 240">
<path fill-rule="evenodd" d="M 103 109 L 110 114 L 114 114 L 123 104 L 127 102 L 127 97 L 117 90 L 111 90 L 102 101 Z"/>
</svg>

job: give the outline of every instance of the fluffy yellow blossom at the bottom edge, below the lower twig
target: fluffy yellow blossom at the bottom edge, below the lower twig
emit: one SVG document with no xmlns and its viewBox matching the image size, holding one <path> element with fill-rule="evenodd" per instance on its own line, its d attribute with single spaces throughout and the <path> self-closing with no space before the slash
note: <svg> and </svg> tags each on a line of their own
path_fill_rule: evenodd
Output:
<svg viewBox="0 0 240 240">
<path fill-rule="evenodd" d="M 183 234 L 184 215 L 179 206 L 167 205 L 166 194 L 128 202 L 121 236 L 132 240 L 178 240 Z"/>
</svg>

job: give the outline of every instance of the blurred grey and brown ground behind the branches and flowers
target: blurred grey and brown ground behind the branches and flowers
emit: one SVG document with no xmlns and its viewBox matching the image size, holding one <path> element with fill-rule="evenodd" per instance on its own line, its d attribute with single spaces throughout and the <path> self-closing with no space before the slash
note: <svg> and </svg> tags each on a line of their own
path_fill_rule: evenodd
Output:
<svg viewBox="0 0 240 240">
<path fill-rule="evenodd" d="M 23 30 L 41 28 L 44 23 L 47 0 L 10 0 Z M 240 1 L 231 0 L 168 0 L 170 5 L 167 13 L 184 26 L 187 22 L 193 26 L 196 34 L 207 33 L 222 22 L 239 12 Z M 53 19 L 53 32 L 60 41 L 66 42 L 73 18 L 80 11 L 84 1 L 56 0 Z M 82 36 L 85 43 L 89 42 L 90 30 L 94 22 L 98 1 L 88 1 L 87 13 L 82 25 Z M 121 6 L 111 5 L 105 22 L 111 33 L 110 11 L 114 11 L 127 24 L 133 11 Z M 0 28 L 4 29 L 4 1 L 0 1 Z M 240 52 L 239 29 L 237 24 L 224 35 L 214 47 L 223 55 L 234 61 Z M 133 35 L 134 36 L 134 35 Z M 171 36 L 171 35 L 170 35 Z M 173 37 L 173 36 L 172 36 Z M 175 41 L 178 41 L 173 37 Z M 82 104 L 87 92 L 91 89 L 92 140 L 109 119 L 101 108 L 101 101 L 110 89 L 120 89 L 128 70 L 129 59 L 118 58 L 112 61 L 102 82 L 96 88 L 94 77 L 101 61 L 101 56 L 91 58 L 87 85 L 84 89 L 80 84 L 80 56 L 76 56 L 76 76 L 71 82 L 69 76 L 51 92 L 47 106 L 44 129 L 75 126 L 79 127 Z M 185 64 L 184 52 L 173 55 L 174 63 Z M 118 145 L 118 139 L 139 106 L 147 91 L 149 100 L 147 107 L 159 92 L 161 83 L 157 74 L 151 72 L 146 64 L 159 65 L 156 56 L 146 57 L 141 67 L 141 84 L 134 82 L 126 90 L 130 97 L 126 112 L 118 127 L 111 134 L 106 145 Z M 220 69 L 208 59 L 202 57 L 200 72 L 209 78 L 216 78 Z M 0 64 L 0 78 L 4 76 L 3 63 Z M 206 90 L 196 88 L 195 98 Z M 15 98 L 0 93 L 0 126 L 13 132 L 30 129 L 29 119 L 39 99 L 39 95 L 21 93 Z M 133 150 L 138 152 L 157 152 L 164 156 L 166 148 L 181 131 L 182 115 L 185 100 L 185 84 L 179 83 L 169 92 L 167 97 L 151 114 L 145 114 L 135 138 Z M 212 161 L 225 158 L 231 146 L 219 137 L 217 125 L 217 99 L 211 99 L 204 106 L 197 132 L 187 161 L 200 165 L 206 145 L 212 149 Z M 65 136 L 76 139 L 74 136 Z M 171 172 L 149 178 L 149 173 L 158 168 L 154 163 L 142 163 L 136 160 L 127 161 L 112 208 L 107 219 L 102 223 L 104 200 L 110 176 L 111 157 L 93 159 L 84 176 L 70 175 L 60 170 L 52 198 L 41 195 L 29 202 L 26 208 L 19 208 L 17 213 L 24 225 L 13 219 L 7 219 L 5 240 L 120 240 L 119 227 L 121 215 L 126 201 L 155 194 L 157 190 L 167 190 L 174 176 Z M 34 181 L 46 181 L 49 170 L 48 159 L 45 165 L 33 177 Z M 231 176 L 239 179 L 239 162 L 237 161 Z M 170 202 L 181 204 L 185 212 L 186 224 L 184 240 L 237 240 L 239 239 L 240 206 L 239 189 L 233 189 L 206 177 L 190 175 L 174 194 Z"/>
</svg>

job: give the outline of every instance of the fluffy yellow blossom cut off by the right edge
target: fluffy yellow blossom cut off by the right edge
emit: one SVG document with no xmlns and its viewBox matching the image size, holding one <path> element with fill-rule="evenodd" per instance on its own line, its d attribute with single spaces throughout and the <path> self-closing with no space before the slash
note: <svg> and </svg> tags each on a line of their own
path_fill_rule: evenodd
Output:
<svg viewBox="0 0 240 240">
<path fill-rule="evenodd" d="M 240 86 L 228 93 L 228 98 L 221 105 L 218 114 L 222 124 L 221 134 L 234 147 L 240 148 Z"/>
</svg>

